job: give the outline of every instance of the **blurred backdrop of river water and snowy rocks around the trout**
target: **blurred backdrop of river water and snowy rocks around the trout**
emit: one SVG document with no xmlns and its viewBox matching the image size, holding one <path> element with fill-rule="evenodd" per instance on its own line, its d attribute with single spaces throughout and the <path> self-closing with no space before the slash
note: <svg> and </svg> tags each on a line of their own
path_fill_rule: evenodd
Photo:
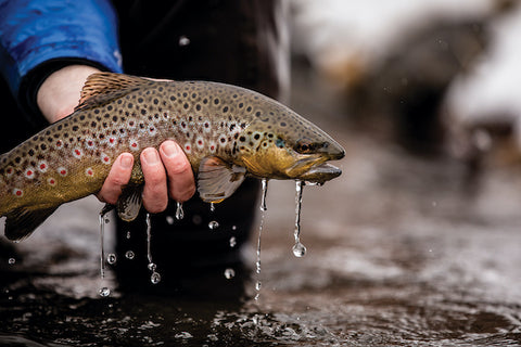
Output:
<svg viewBox="0 0 521 347">
<path fill-rule="evenodd" d="M 271 181 L 260 274 L 251 271 L 254 232 L 250 271 L 226 279 L 217 269 L 220 282 L 204 282 L 202 295 L 120 293 L 107 266 L 113 294 L 101 299 L 101 204 L 87 198 L 60 208 L 16 249 L 3 246 L 15 262 L 0 264 L 0 340 L 521 345 L 521 4 L 285 4 L 288 104 L 346 150 L 340 178 L 304 188 L 306 256 L 291 252 L 294 184 Z M 212 295 L 237 286 L 245 295 Z"/>
</svg>

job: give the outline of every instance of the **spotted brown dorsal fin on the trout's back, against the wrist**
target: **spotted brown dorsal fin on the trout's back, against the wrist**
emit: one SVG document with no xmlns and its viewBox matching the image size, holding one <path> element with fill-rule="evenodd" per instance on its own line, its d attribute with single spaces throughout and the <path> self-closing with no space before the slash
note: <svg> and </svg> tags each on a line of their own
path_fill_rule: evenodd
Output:
<svg viewBox="0 0 521 347">
<path fill-rule="evenodd" d="M 113 73 L 92 74 L 87 78 L 81 89 L 79 104 L 74 111 L 92 107 L 100 103 L 111 101 L 116 97 L 125 95 L 150 82 L 152 82 L 150 79 L 129 75 Z"/>
</svg>

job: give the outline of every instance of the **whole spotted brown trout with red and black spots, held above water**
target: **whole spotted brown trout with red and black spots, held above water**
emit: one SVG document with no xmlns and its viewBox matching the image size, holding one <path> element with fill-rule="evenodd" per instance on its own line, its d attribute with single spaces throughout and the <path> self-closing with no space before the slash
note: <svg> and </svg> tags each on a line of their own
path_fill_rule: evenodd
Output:
<svg viewBox="0 0 521 347">
<path fill-rule="evenodd" d="M 139 154 L 171 139 L 183 149 L 205 202 L 230 196 L 245 176 L 322 183 L 344 150 L 290 108 L 254 91 L 206 81 L 91 75 L 74 113 L 0 156 L 5 236 L 28 236 L 61 204 L 98 192 L 112 163 L 134 154 L 117 211 L 141 207 Z"/>
</svg>

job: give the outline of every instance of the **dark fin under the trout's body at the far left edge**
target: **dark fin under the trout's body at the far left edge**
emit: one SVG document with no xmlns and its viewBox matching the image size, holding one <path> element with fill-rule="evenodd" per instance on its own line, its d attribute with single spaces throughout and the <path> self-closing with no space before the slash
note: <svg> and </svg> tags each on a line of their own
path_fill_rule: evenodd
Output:
<svg viewBox="0 0 521 347">
<path fill-rule="evenodd" d="M 16 208 L 5 215 L 5 237 L 11 241 L 22 241 L 28 237 L 58 206 L 48 208 Z"/>
</svg>

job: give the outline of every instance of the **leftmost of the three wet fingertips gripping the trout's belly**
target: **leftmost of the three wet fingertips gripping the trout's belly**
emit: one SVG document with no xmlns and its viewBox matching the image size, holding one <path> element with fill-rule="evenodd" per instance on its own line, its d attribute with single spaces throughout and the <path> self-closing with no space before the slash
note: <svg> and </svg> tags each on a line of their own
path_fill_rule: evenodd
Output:
<svg viewBox="0 0 521 347">
<path fill-rule="evenodd" d="M 134 156 L 130 153 L 122 153 L 103 182 L 103 187 L 97 196 L 101 202 L 115 204 L 122 194 L 122 188 L 128 183 L 132 175 Z"/>
</svg>

